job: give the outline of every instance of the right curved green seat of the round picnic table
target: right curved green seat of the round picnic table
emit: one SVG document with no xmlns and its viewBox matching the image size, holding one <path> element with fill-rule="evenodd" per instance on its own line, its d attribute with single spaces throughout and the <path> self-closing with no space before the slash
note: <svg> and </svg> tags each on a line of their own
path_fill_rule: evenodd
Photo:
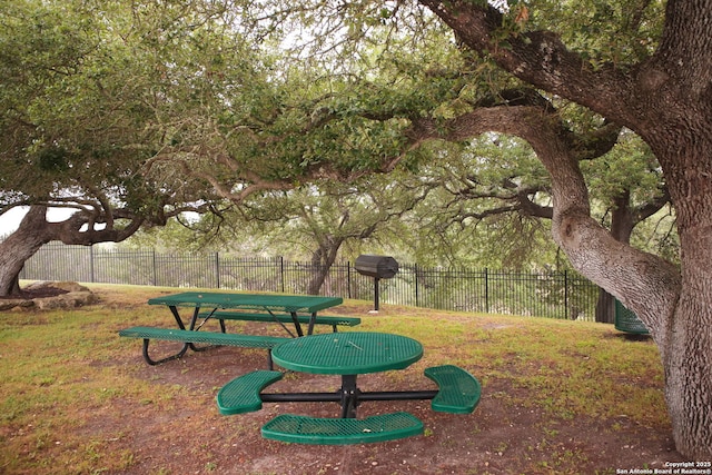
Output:
<svg viewBox="0 0 712 475">
<path fill-rule="evenodd" d="M 433 410 L 469 414 L 477 407 L 482 387 L 465 369 L 454 365 L 434 366 L 425 369 L 425 376 L 439 387 L 431 402 Z"/>
</svg>

